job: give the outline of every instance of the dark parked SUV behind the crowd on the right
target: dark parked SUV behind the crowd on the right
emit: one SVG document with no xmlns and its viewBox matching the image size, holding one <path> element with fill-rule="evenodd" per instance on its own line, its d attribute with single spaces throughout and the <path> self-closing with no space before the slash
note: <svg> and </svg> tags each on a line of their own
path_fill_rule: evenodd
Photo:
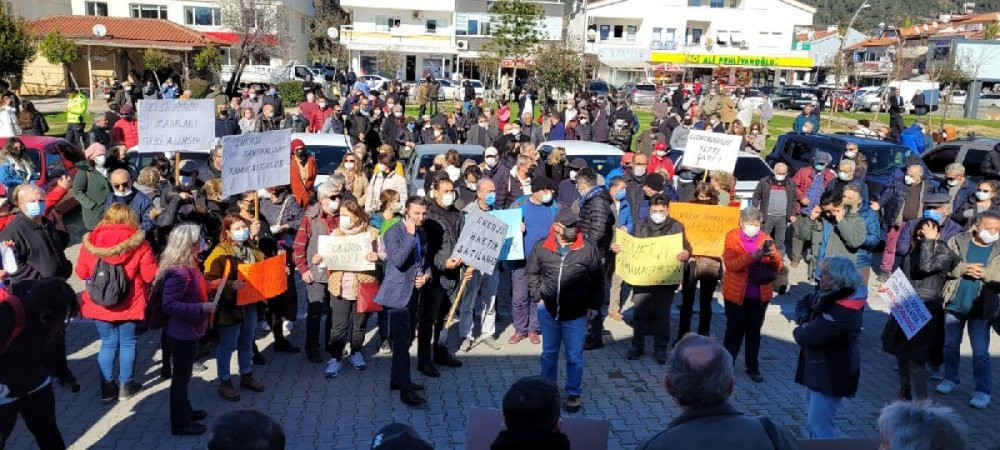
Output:
<svg viewBox="0 0 1000 450">
<path fill-rule="evenodd" d="M 794 174 L 803 167 L 812 165 L 817 151 L 824 151 L 833 157 L 831 167 L 840 162 L 847 143 L 858 145 L 858 151 L 868 159 L 868 184 L 870 196 L 877 197 L 889 183 L 889 176 L 896 168 L 903 167 L 906 158 L 913 152 L 904 145 L 877 139 L 859 138 L 850 134 L 804 134 L 785 133 L 778 137 L 774 149 L 767 155 L 767 164 L 774 167 L 783 162 L 789 173 Z"/>
</svg>

